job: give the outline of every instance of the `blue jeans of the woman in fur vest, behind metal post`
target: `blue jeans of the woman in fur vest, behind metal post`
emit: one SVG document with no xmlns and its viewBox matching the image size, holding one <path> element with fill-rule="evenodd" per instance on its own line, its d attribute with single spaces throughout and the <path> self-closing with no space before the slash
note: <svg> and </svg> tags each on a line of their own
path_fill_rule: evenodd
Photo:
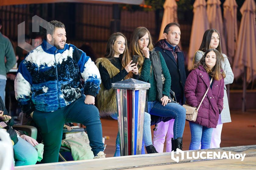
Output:
<svg viewBox="0 0 256 170">
<path fill-rule="evenodd" d="M 117 120 L 117 113 L 112 114 L 111 117 Z M 143 141 L 142 141 L 142 149 L 141 154 L 145 154 L 144 146 L 152 145 L 152 136 L 151 136 L 151 128 L 150 128 L 150 114 L 144 112 L 144 124 L 143 124 Z M 116 151 L 114 156 L 120 156 L 120 144 L 119 144 L 119 133 L 117 133 L 116 137 Z"/>
</svg>

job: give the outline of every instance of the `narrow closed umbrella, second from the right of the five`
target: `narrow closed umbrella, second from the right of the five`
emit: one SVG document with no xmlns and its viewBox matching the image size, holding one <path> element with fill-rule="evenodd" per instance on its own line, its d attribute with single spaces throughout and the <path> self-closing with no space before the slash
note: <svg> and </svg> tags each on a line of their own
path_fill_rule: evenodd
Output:
<svg viewBox="0 0 256 170">
<path fill-rule="evenodd" d="M 224 35 L 227 40 L 227 56 L 229 62 L 233 63 L 237 41 L 237 4 L 235 0 L 226 0 L 223 4 Z"/>
</svg>

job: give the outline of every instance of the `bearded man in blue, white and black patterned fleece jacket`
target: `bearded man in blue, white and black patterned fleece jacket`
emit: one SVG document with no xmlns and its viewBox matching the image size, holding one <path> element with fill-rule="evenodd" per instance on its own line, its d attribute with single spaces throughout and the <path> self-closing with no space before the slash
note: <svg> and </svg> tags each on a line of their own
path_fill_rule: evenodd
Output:
<svg viewBox="0 0 256 170">
<path fill-rule="evenodd" d="M 100 83 L 91 58 L 66 44 L 65 25 L 48 22 L 42 44 L 21 62 L 15 79 L 19 105 L 41 131 L 43 163 L 58 162 L 65 122 L 84 124 L 94 158 L 105 158 L 99 111 L 94 106 Z"/>
</svg>

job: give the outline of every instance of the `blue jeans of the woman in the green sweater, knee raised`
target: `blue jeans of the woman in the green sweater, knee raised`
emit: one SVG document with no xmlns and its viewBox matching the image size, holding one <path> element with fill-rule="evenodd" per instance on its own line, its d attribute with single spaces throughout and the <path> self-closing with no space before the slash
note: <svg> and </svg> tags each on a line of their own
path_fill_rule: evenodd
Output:
<svg viewBox="0 0 256 170">
<path fill-rule="evenodd" d="M 175 119 L 173 124 L 173 138 L 177 139 L 182 137 L 185 121 L 186 121 L 186 109 L 177 103 L 168 103 L 162 106 L 159 101 L 148 102 L 148 113 L 161 117 L 172 117 Z"/>
</svg>

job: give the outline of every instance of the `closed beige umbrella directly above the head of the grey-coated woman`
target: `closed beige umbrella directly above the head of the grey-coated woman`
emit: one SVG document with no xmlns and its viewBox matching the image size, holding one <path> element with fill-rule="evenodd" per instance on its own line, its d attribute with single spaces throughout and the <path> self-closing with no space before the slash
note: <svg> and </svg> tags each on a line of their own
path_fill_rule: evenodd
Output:
<svg viewBox="0 0 256 170">
<path fill-rule="evenodd" d="M 206 12 L 210 24 L 210 29 L 217 29 L 219 31 L 222 53 L 227 54 L 220 4 L 221 2 L 219 0 L 208 0 Z"/>
</svg>

